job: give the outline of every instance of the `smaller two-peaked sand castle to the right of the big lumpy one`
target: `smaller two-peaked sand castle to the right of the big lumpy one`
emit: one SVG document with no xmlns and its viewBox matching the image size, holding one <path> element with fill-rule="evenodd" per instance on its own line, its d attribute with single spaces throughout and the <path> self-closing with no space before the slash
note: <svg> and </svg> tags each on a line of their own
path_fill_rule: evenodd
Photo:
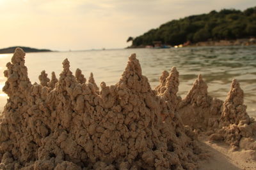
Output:
<svg viewBox="0 0 256 170">
<path fill-rule="evenodd" d="M 256 150 L 256 122 L 246 113 L 243 97 L 243 90 L 234 79 L 225 102 L 212 99 L 202 76 L 198 75 L 188 95 L 179 103 L 182 121 L 209 136 L 211 141 L 225 141 L 233 150 L 239 147 Z M 244 140 L 250 147 L 245 147 Z"/>
</svg>

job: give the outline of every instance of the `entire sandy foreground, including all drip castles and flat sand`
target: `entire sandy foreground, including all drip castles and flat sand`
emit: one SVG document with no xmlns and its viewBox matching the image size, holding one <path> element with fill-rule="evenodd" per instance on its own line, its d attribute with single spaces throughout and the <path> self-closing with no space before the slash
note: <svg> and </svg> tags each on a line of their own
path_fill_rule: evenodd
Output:
<svg viewBox="0 0 256 170">
<path fill-rule="evenodd" d="M 232 81 L 213 99 L 198 75 L 181 99 L 179 72 L 164 71 L 152 90 L 131 55 L 116 85 L 81 70 L 31 84 L 17 48 L 4 71 L 8 95 L 1 118 L 1 169 L 255 169 L 255 120 Z"/>
</svg>

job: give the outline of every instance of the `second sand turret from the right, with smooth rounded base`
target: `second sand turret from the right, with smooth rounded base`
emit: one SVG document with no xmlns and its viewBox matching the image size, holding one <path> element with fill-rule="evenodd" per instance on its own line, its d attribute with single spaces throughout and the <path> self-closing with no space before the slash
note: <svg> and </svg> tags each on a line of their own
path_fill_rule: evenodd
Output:
<svg viewBox="0 0 256 170">
<path fill-rule="evenodd" d="M 211 133 L 218 127 L 221 104 L 207 92 L 207 84 L 199 74 L 187 96 L 179 103 L 179 112 L 185 125 L 196 131 Z"/>
</svg>

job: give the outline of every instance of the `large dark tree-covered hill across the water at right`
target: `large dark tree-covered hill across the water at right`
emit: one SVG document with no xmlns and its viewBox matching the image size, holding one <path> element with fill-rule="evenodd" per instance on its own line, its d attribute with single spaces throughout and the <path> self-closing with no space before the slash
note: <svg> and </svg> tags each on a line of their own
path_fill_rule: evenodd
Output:
<svg viewBox="0 0 256 170">
<path fill-rule="evenodd" d="M 202 15 L 172 20 L 157 29 L 136 38 L 129 38 L 132 46 L 153 45 L 161 41 L 164 45 L 180 45 L 186 42 L 219 41 L 256 37 L 256 7 L 240 10 L 211 11 Z M 132 39 L 132 40 L 131 40 Z"/>
</svg>

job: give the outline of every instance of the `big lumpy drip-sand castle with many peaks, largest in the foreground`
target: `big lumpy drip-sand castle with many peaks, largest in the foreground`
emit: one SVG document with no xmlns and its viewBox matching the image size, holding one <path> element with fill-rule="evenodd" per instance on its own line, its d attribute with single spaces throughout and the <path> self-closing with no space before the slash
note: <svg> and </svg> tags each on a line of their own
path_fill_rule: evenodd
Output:
<svg viewBox="0 0 256 170">
<path fill-rule="evenodd" d="M 201 151 L 177 112 L 175 68 L 157 94 L 134 54 L 101 90 L 67 59 L 59 80 L 43 71 L 32 85 L 24 58 L 17 48 L 4 71 L 0 169 L 196 169 Z"/>
</svg>

